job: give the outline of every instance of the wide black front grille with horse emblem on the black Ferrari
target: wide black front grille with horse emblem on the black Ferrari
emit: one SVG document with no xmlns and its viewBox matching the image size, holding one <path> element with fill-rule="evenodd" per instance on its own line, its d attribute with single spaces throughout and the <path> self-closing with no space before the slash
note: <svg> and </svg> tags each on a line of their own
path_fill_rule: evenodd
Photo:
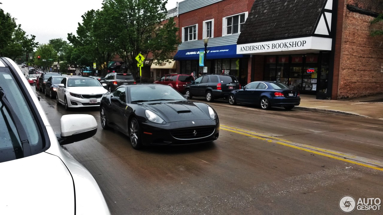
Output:
<svg viewBox="0 0 383 215">
<path fill-rule="evenodd" d="M 191 140 L 208 137 L 213 134 L 215 127 L 198 127 L 198 128 L 188 128 L 188 129 L 176 129 L 170 131 L 170 134 L 180 140 Z"/>
</svg>

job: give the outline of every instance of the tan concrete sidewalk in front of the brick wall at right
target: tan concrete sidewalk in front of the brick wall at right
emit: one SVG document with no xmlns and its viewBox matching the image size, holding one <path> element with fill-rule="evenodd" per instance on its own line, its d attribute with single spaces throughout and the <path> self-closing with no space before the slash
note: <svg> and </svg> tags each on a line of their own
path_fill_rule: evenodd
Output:
<svg viewBox="0 0 383 215">
<path fill-rule="evenodd" d="M 334 114 L 344 114 L 353 116 L 372 117 L 375 119 L 383 120 L 383 102 L 367 102 L 367 101 L 381 101 L 382 96 L 375 96 L 374 98 L 358 98 L 345 100 L 320 100 L 315 99 L 313 95 L 300 95 L 301 104 L 295 106 L 294 109 L 327 112 Z"/>
</svg>

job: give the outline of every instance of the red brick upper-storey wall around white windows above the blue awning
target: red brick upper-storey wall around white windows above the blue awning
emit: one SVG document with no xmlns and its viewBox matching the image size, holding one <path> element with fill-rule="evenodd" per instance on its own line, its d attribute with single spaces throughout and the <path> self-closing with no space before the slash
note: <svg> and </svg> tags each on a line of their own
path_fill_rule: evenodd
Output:
<svg viewBox="0 0 383 215">
<path fill-rule="evenodd" d="M 214 19 L 214 37 L 221 37 L 222 18 L 245 11 L 250 12 L 253 3 L 254 0 L 224 0 L 187 13 L 182 13 L 179 15 L 179 35 L 182 35 L 183 27 L 198 24 L 197 39 L 202 39 L 203 21 Z"/>
</svg>

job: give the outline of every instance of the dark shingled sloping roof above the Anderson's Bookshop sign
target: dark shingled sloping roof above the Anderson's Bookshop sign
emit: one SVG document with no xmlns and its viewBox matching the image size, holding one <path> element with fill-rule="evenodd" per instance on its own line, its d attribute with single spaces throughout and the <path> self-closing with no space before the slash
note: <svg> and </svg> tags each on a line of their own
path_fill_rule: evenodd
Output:
<svg viewBox="0 0 383 215">
<path fill-rule="evenodd" d="M 237 44 L 310 36 L 326 0 L 255 0 Z"/>
</svg>

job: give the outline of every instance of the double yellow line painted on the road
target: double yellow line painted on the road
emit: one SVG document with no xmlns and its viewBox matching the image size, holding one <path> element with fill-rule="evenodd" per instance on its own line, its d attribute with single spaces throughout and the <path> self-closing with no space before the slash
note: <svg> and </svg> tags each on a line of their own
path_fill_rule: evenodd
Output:
<svg viewBox="0 0 383 215">
<path fill-rule="evenodd" d="M 349 155 L 349 154 L 345 154 L 345 153 L 339 153 L 337 151 L 313 147 L 313 146 L 309 146 L 309 145 L 305 145 L 305 144 L 301 144 L 301 143 L 293 143 L 293 142 L 290 142 L 288 140 L 283 140 L 283 139 L 280 139 L 277 137 L 270 137 L 267 135 L 258 134 L 258 133 L 255 133 L 255 132 L 252 132 L 249 130 L 243 130 L 243 129 L 238 129 L 235 127 L 229 127 L 227 125 L 220 125 L 219 129 L 220 130 L 226 130 L 229 132 L 234 132 L 236 134 L 245 135 L 247 137 L 253 137 L 253 138 L 256 138 L 259 140 L 265 140 L 267 142 L 277 143 L 277 144 L 284 145 L 284 146 L 291 147 L 291 148 L 296 148 L 299 150 L 314 153 L 316 155 L 322 155 L 322 156 L 326 156 L 326 157 L 333 158 L 336 160 L 341 160 L 341 161 L 345 161 L 348 163 L 352 163 L 352 164 L 365 166 L 368 168 L 383 171 L 383 163 L 380 161 L 373 161 L 373 160 L 363 158 L 360 156 L 354 156 L 354 155 Z"/>
</svg>

